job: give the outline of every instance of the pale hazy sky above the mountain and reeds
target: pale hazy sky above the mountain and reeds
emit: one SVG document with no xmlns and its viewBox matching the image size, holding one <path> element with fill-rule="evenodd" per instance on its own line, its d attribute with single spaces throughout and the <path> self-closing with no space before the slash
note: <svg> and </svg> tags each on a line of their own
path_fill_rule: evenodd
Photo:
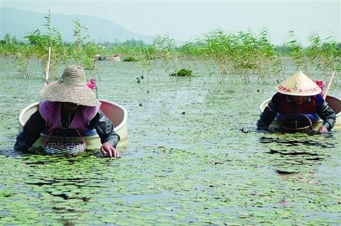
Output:
<svg viewBox="0 0 341 226">
<path fill-rule="evenodd" d="M 195 40 L 217 28 L 252 32 L 266 28 L 271 43 L 281 45 L 293 30 L 306 43 L 308 36 L 332 36 L 341 42 L 341 1 L 78 1 L 0 0 L 1 8 L 38 13 L 63 13 L 104 18 L 134 33 L 170 35 Z M 82 21 L 80 21 L 82 22 Z M 86 25 L 85 25 L 86 26 Z"/>
</svg>

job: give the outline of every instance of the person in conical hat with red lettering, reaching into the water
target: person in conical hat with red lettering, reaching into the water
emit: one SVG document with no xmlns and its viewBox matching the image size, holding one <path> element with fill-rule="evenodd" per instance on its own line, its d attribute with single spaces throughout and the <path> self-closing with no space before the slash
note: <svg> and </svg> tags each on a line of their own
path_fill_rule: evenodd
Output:
<svg viewBox="0 0 341 226">
<path fill-rule="evenodd" d="M 269 125 L 278 114 L 300 113 L 316 114 L 323 120 L 318 132 L 328 132 L 336 121 L 335 112 L 320 94 L 321 89 L 315 81 L 303 72 L 293 74 L 290 78 L 276 86 L 278 91 L 261 113 L 257 121 L 257 130 L 268 130 Z"/>
</svg>

